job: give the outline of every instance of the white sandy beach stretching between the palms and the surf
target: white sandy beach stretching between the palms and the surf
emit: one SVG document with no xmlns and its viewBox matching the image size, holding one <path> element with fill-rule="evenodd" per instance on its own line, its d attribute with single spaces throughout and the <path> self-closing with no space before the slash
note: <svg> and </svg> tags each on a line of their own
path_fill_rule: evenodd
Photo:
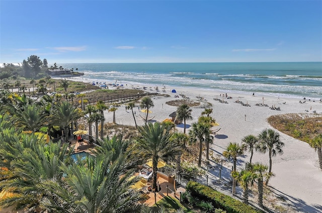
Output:
<svg viewBox="0 0 322 213">
<path fill-rule="evenodd" d="M 82 78 L 71 79 L 83 82 L 92 82 L 93 79 Z M 147 86 L 146 91 L 155 92 L 153 87 L 155 85 L 126 85 L 126 82 L 122 82 L 124 88 L 132 88 Z M 214 155 L 219 156 L 221 159 L 224 157 L 221 153 L 224 151 L 229 142 L 241 143 L 241 139 L 247 135 L 258 135 L 263 129 L 271 128 L 267 122 L 267 118 L 277 114 L 288 113 L 303 113 L 309 115 L 321 115 L 322 103 L 319 99 L 314 101 L 305 100 L 302 98 L 287 98 L 283 96 L 264 96 L 261 94 L 243 94 L 243 93 L 228 93 L 228 96 L 232 98 L 222 97 L 221 94 L 225 94 L 222 91 L 209 91 L 209 90 L 196 90 L 188 88 L 168 88 L 163 91 L 162 85 L 157 85 L 161 94 L 169 94 L 170 97 L 164 96 L 152 96 L 154 107 L 150 110 L 149 118 L 153 118 L 152 121 L 162 122 L 163 120 L 170 118 L 169 115 L 177 110 L 177 107 L 166 104 L 169 100 L 180 99 L 180 94 L 186 95 L 192 100 L 198 100 L 203 105 L 205 102 L 212 104 L 213 114 L 212 117 L 220 124 L 218 127 L 213 127 L 213 130 L 220 128 L 214 139 L 214 144 L 211 149 Z M 151 88 L 149 88 L 151 87 Z M 111 87 L 110 87 L 111 88 Z M 120 88 L 121 89 L 121 88 Z M 172 93 L 171 90 L 176 89 L 177 93 Z M 174 97 L 179 95 L 180 98 Z M 200 100 L 196 96 L 203 97 Z M 220 103 L 214 98 L 220 98 L 227 103 Z M 235 101 L 243 101 L 248 103 L 250 107 L 245 107 Z M 269 107 L 259 107 L 256 103 L 268 104 L 269 107 L 275 105 L 280 107 L 280 111 L 270 110 Z M 284 104 L 285 103 L 285 104 Z M 204 110 L 202 107 L 192 108 L 193 120 L 187 121 L 187 125 L 192 125 L 196 122 L 201 112 Z M 315 111 L 315 113 L 313 113 Z M 125 105 L 122 105 L 116 112 L 116 123 L 120 125 L 134 125 L 132 113 L 125 110 Z M 141 113 L 137 108 L 135 109 L 135 116 L 138 125 L 143 125 L 144 121 L 140 115 L 144 117 L 144 113 Z M 112 122 L 113 113 L 105 112 L 106 122 Z M 178 131 L 183 132 L 183 128 L 177 127 Z M 187 129 L 189 132 L 190 128 Z M 281 141 L 285 143 L 283 148 L 284 154 L 273 157 L 272 171 L 275 177 L 270 180 L 270 186 L 272 186 L 278 196 L 283 197 L 284 202 L 287 202 L 289 206 L 295 208 L 294 212 L 322 212 L 322 171 L 318 168 L 317 153 L 314 152 L 307 143 L 294 139 L 288 135 L 280 133 Z M 243 168 L 245 162 L 249 161 L 250 153 L 246 152 L 245 156 L 238 158 L 238 167 Z M 253 156 L 253 162 L 261 162 L 269 164 L 268 154 L 260 154 L 255 152 Z M 232 163 L 227 162 L 225 166 L 231 168 Z M 215 180 L 217 177 L 216 172 L 213 172 Z M 277 205 L 279 203 L 276 203 Z"/>
</svg>

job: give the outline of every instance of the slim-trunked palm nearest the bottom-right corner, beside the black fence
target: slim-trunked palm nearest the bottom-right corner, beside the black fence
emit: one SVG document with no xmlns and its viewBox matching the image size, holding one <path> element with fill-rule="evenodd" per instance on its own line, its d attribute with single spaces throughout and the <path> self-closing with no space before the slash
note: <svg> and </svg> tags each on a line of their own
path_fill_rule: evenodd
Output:
<svg viewBox="0 0 322 213">
<path fill-rule="evenodd" d="M 264 186 L 264 178 L 266 181 L 270 179 L 270 177 L 274 176 L 273 172 L 267 172 L 268 167 L 264 164 L 255 163 L 249 165 L 250 171 L 253 172 L 253 180 L 258 180 L 258 203 L 263 205 L 263 186 Z M 253 183 L 253 181 L 252 181 Z"/>
</svg>

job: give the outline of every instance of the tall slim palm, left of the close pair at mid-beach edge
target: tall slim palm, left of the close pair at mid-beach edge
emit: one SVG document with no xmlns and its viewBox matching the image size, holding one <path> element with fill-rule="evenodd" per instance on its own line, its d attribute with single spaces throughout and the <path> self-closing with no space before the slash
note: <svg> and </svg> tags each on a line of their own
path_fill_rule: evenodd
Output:
<svg viewBox="0 0 322 213">
<path fill-rule="evenodd" d="M 207 129 L 204 123 L 193 123 L 192 129 L 189 132 L 189 137 L 191 142 L 199 141 L 199 158 L 198 158 L 198 167 L 201 167 L 201 159 L 202 159 L 202 143 L 205 142 L 204 132 Z M 185 134 L 185 133 L 184 133 Z"/>
</svg>

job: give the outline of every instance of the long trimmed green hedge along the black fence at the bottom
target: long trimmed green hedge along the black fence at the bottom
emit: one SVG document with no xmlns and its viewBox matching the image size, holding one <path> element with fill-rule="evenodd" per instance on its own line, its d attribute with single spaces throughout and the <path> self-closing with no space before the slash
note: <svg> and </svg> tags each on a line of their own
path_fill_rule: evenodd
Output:
<svg viewBox="0 0 322 213">
<path fill-rule="evenodd" d="M 199 199 L 210 201 L 215 208 L 226 210 L 227 213 L 259 213 L 253 207 L 222 194 L 208 186 L 189 181 L 186 190 L 190 191 L 192 196 Z"/>
</svg>

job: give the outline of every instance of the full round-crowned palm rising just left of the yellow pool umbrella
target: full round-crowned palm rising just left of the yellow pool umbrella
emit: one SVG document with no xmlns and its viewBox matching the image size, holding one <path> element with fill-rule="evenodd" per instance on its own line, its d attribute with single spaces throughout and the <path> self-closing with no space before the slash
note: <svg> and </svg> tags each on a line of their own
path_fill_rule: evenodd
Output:
<svg viewBox="0 0 322 213">
<path fill-rule="evenodd" d="M 73 107 L 68 101 L 62 101 L 55 105 L 54 110 L 51 115 L 51 123 L 57 125 L 63 131 L 62 136 L 66 137 L 66 130 L 71 122 L 76 121 L 77 119 L 83 116 L 81 109 Z"/>
</svg>

